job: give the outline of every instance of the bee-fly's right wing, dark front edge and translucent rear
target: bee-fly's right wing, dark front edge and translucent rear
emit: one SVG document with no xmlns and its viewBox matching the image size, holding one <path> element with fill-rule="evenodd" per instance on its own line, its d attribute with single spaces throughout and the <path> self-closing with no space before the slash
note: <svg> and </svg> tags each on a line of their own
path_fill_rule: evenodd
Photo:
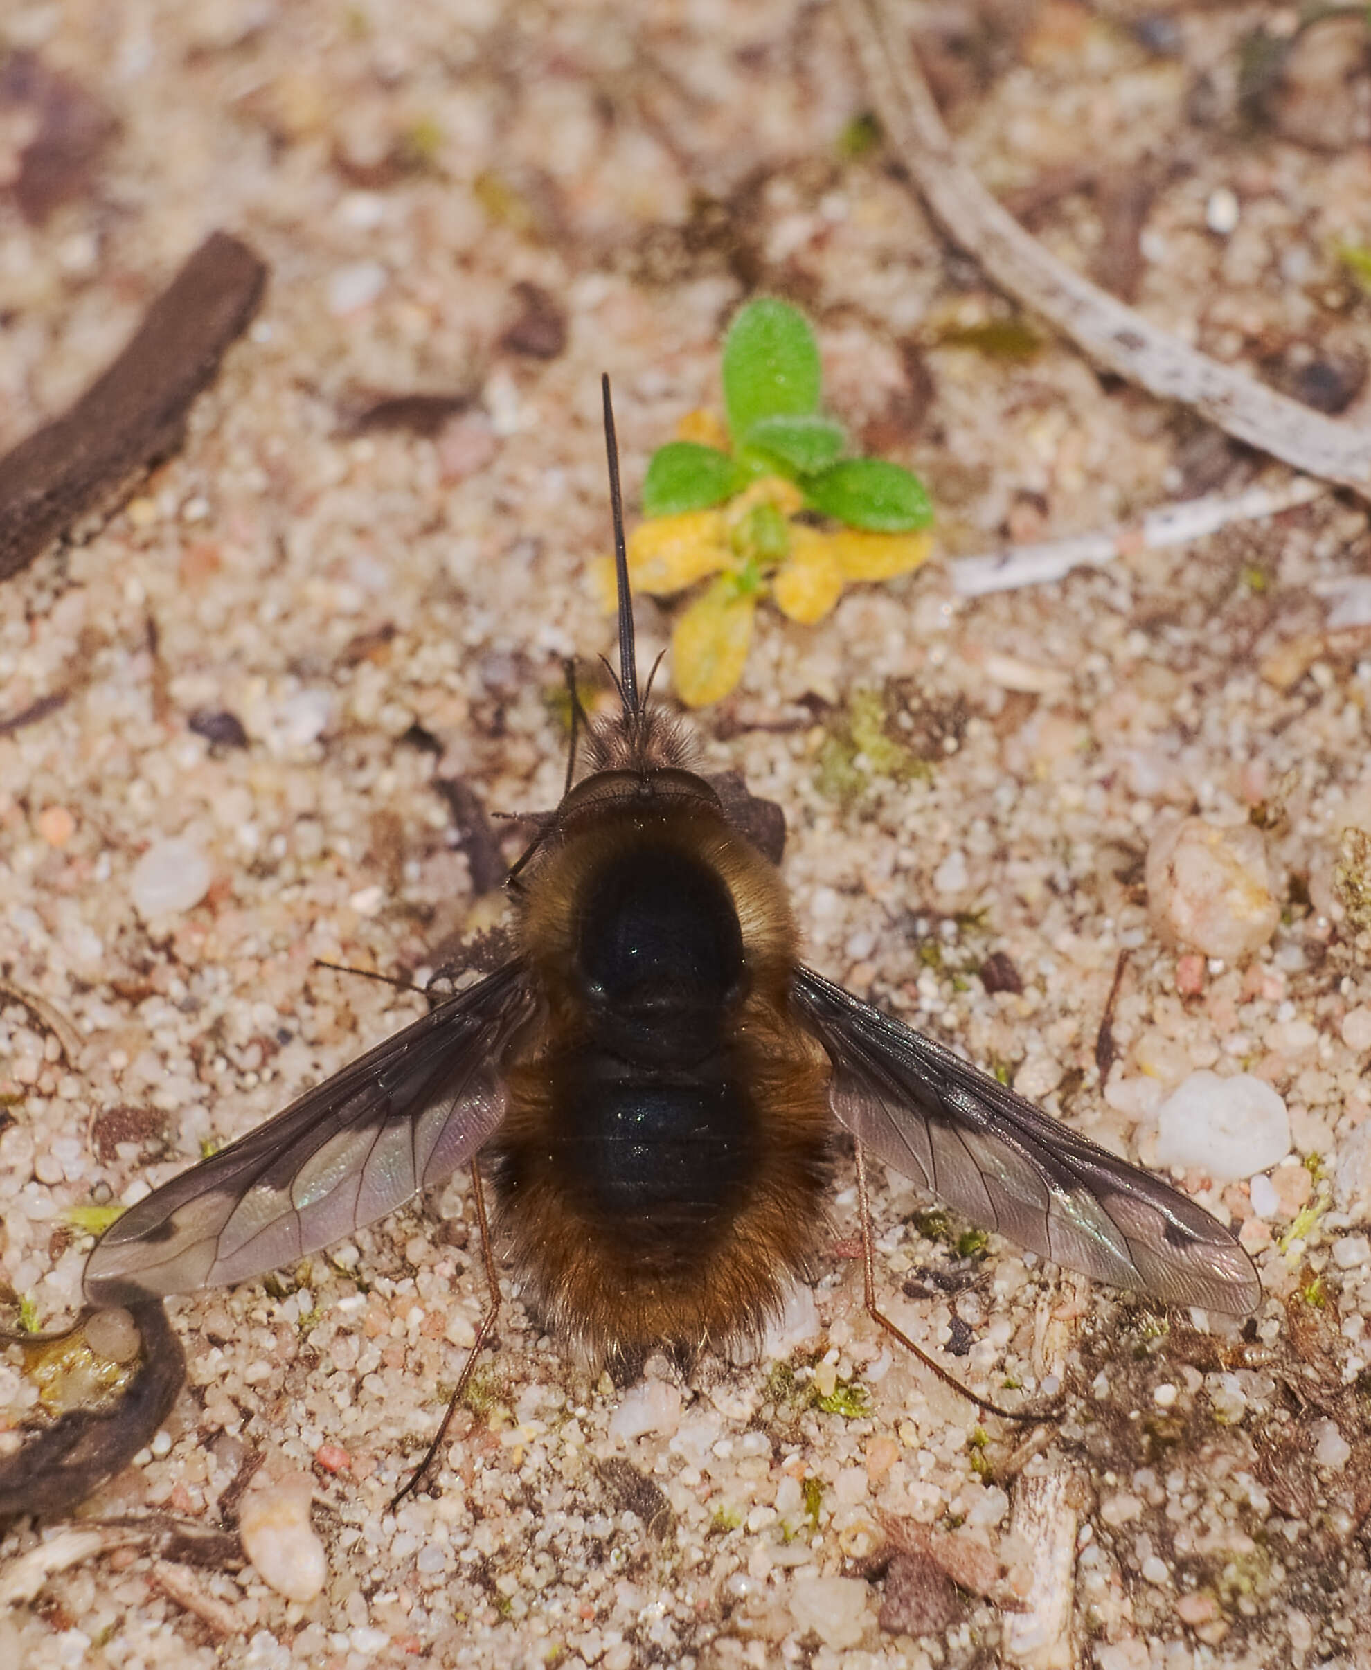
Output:
<svg viewBox="0 0 1371 1670">
<path fill-rule="evenodd" d="M 792 1000 L 833 1064 L 835 1117 L 972 1222 L 1169 1304 L 1256 1309 L 1252 1261 L 1177 1189 L 810 969 Z"/>
</svg>

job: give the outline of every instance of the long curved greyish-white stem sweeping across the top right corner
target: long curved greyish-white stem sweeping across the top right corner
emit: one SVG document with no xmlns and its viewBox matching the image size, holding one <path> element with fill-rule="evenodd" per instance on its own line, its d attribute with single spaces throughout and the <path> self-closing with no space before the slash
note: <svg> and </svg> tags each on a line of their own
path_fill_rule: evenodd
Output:
<svg viewBox="0 0 1371 1670">
<path fill-rule="evenodd" d="M 897 0 L 840 0 L 877 115 L 932 217 L 992 284 L 1032 307 L 1097 366 L 1179 401 L 1294 469 L 1371 498 L 1371 431 L 1324 418 L 1187 347 L 1072 272 L 962 162 L 918 68 Z"/>
</svg>

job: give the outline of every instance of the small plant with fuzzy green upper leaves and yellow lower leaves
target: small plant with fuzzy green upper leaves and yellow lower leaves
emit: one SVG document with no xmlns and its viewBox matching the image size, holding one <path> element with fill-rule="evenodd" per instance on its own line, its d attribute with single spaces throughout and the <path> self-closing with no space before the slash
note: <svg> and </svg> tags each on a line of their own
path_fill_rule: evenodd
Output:
<svg viewBox="0 0 1371 1670">
<path fill-rule="evenodd" d="M 892 579 L 930 551 L 933 519 L 917 476 L 847 454 L 847 434 L 820 412 L 818 342 L 805 316 L 763 297 L 738 312 L 723 342 L 726 424 L 691 412 L 653 454 L 646 519 L 628 544 L 640 591 L 708 586 L 676 621 L 676 691 L 718 701 L 743 676 L 756 605 L 770 596 L 813 625 L 853 581 Z M 613 571 L 601 566 L 606 598 Z"/>
</svg>

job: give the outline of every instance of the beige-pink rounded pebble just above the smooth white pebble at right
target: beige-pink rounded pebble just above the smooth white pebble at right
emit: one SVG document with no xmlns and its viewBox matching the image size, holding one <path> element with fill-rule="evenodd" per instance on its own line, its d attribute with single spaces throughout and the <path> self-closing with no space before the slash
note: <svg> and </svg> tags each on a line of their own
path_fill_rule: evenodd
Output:
<svg viewBox="0 0 1371 1670">
<path fill-rule="evenodd" d="M 1206 957 L 1247 957 L 1281 920 L 1266 842 L 1251 823 L 1167 823 L 1147 848 L 1146 880 L 1157 932 Z"/>
</svg>

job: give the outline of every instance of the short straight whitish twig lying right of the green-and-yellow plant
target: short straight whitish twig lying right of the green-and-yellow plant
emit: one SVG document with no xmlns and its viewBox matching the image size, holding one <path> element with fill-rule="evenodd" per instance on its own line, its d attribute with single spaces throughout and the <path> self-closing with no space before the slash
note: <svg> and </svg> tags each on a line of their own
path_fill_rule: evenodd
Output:
<svg viewBox="0 0 1371 1670">
<path fill-rule="evenodd" d="M 952 586 L 964 598 L 980 598 L 987 591 L 1015 591 L 1062 579 L 1074 568 L 1102 568 L 1127 551 L 1159 551 L 1167 544 L 1189 544 L 1231 523 L 1277 516 L 1298 504 L 1311 504 L 1333 489 L 1309 476 L 1294 476 L 1281 486 L 1246 488 L 1229 498 L 1214 494 L 1181 499 L 1147 511 L 1136 523 L 1121 523 L 1099 533 L 1082 533 L 1044 544 L 1014 544 L 982 556 L 959 556 L 949 563 Z"/>
</svg>

